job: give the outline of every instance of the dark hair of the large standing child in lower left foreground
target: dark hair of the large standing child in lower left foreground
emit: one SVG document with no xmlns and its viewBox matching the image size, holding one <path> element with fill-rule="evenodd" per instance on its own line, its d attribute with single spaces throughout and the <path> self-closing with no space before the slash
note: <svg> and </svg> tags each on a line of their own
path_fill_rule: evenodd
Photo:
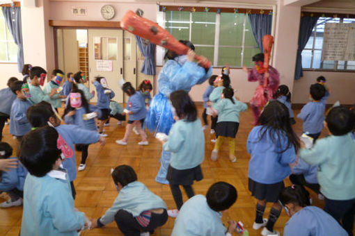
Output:
<svg viewBox="0 0 355 236">
<path fill-rule="evenodd" d="M 19 160 L 33 176 L 42 177 L 53 169 L 60 158 L 55 128 L 44 126 L 32 130 L 22 138 Z"/>
</svg>

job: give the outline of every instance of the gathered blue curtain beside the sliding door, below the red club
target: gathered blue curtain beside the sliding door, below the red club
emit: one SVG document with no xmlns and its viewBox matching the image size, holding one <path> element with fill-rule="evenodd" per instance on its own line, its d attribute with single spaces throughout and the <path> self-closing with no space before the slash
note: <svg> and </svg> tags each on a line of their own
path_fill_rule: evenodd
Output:
<svg viewBox="0 0 355 236">
<path fill-rule="evenodd" d="M 142 37 L 136 35 L 136 41 L 139 49 L 145 58 L 141 72 L 143 74 L 155 75 L 155 44 L 145 41 Z"/>
</svg>

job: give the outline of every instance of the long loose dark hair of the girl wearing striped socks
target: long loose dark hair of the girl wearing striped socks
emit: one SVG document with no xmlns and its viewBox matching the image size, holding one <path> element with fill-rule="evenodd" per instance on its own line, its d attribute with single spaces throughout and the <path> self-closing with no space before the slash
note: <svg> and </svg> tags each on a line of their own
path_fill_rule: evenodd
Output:
<svg viewBox="0 0 355 236">
<path fill-rule="evenodd" d="M 299 149 L 299 138 L 292 129 L 288 109 L 283 103 L 276 100 L 269 101 L 258 119 L 258 124 L 262 125 L 259 131 L 260 140 L 269 133 L 271 141 L 277 146 L 281 146 L 283 135 L 287 136 L 287 146 L 280 153 L 292 145 L 296 152 Z"/>
</svg>

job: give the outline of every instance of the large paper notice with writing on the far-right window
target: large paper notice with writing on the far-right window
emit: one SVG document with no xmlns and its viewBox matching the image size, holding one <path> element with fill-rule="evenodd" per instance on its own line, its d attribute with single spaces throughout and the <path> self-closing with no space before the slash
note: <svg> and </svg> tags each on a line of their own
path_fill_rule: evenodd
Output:
<svg viewBox="0 0 355 236">
<path fill-rule="evenodd" d="M 354 24 L 325 24 L 322 60 L 355 60 Z"/>
</svg>

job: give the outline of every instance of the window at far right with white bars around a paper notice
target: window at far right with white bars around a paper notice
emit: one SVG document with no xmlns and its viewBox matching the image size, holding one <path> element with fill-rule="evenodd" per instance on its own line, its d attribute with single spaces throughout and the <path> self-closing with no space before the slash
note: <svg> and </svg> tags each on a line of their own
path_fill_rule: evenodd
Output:
<svg viewBox="0 0 355 236">
<path fill-rule="evenodd" d="M 355 61 L 338 61 L 324 60 L 322 61 L 324 26 L 326 23 L 347 23 L 355 24 L 355 19 L 340 19 L 331 17 L 319 17 L 312 35 L 302 51 L 302 67 L 303 69 L 332 69 L 332 70 L 354 70 Z"/>
</svg>

